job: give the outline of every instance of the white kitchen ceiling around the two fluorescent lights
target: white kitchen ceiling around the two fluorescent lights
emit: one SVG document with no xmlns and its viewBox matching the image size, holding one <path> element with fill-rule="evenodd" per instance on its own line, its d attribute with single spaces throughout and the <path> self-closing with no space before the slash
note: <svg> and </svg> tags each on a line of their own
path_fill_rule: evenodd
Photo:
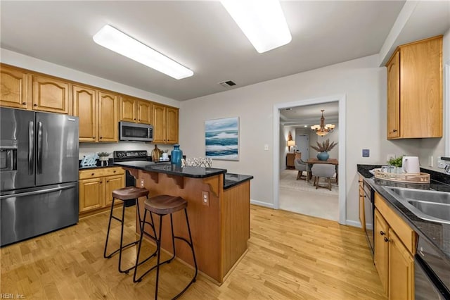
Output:
<svg viewBox="0 0 450 300">
<path fill-rule="evenodd" d="M 219 1 L 1 1 L 3 49 L 183 101 L 380 51 L 404 1 L 282 1 L 290 44 L 258 54 Z M 94 43 L 105 24 L 193 70 L 182 80 Z"/>
</svg>

